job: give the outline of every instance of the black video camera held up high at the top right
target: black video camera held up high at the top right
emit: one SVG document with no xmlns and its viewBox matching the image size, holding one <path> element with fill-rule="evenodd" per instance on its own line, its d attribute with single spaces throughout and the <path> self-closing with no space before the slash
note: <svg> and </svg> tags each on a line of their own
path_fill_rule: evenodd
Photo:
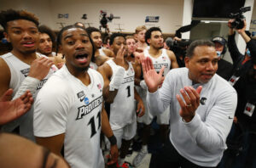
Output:
<svg viewBox="0 0 256 168">
<path fill-rule="evenodd" d="M 231 22 L 231 28 L 235 28 L 235 29 L 241 29 L 243 28 L 244 24 L 243 24 L 243 20 L 245 20 L 245 17 L 243 15 L 243 13 L 250 11 L 251 7 L 242 7 L 239 9 L 239 12 L 236 14 L 230 14 L 230 18 L 234 19 L 233 22 Z"/>
</svg>

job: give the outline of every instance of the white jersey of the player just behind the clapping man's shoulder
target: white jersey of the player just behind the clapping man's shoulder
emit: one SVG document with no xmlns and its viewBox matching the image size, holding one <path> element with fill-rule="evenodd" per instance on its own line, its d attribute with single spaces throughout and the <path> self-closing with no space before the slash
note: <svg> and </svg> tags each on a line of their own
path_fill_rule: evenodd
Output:
<svg viewBox="0 0 256 168">
<path fill-rule="evenodd" d="M 167 55 L 166 49 L 161 49 L 161 51 L 162 51 L 162 54 L 158 58 L 152 57 L 148 53 L 148 49 L 144 49 L 144 55 L 145 57 L 149 57 L 150 59 L 152 59 L 154 69 L 156 70 L 157 73 L 160 72 L 162 66 L 166 66 L 164 70 L 164 76 L 166 76 L 166 74 L 169 72 L 171 68 L 171 60 Z"/>
</svg>

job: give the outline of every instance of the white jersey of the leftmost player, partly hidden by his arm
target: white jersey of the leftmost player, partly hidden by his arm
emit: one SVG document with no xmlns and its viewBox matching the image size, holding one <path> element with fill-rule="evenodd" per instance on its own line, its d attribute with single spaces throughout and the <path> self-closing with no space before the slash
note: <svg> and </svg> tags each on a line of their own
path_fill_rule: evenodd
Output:
<svg viewBox="0 0 256 168">
<path fill-rule="evenodd" d="M 46 57 L 44 55 L 38 55 L 39 57 Z M 9 66 L 11 79 L 9 82 L 9 87 L 14 89 L 13 95 L 18 91 L 22 81 L 28 76 L 30 65 L 22 62 L 20 59 L 15 57 L 12 53 L 6 53 L 1 57 Z M 38 91 L 44 86 L 44 83 L 49 79 L 58 68 L 53 65 L 49 70 L 49 74 L 38 84 L 36 98 Z M 9 122 L 8 124 L 2 127 L 3 132 L 13 132 L 17 126 L 20 126 L 20 136 L 26 137 L 35 141 L 32 131 L 32 120 L 33 120 L 33 105 L 32 108 L 25 114 L 22 115 L 19 119 Z"/>
</svg>

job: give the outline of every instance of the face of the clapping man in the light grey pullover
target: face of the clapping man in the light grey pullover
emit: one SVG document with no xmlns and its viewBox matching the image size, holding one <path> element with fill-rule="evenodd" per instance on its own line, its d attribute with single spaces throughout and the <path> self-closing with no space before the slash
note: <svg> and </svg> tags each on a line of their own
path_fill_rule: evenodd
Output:
<svg viewBox="0 0 256 168">
<path fill-rule="evenodd" d="M 207 83 L 218 70 L 218 56 L 214 47 L 198 46 L 191 58 L 185 58 L 189 79 L 195 83 Z"/>
</svg>

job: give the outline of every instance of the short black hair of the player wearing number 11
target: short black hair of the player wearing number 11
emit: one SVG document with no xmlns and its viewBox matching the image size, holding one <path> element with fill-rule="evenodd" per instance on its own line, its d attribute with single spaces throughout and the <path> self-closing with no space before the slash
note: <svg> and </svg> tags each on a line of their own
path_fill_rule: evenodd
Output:
<svg viewBox="0 0 256 168">
<path fill-rule="evenodd" d="M 64 31 L 67 31 L 67 30 L 69 30 L 69 29 L 73 29 L 73 28 L 79 28 L 79 29 L 83 29 L 84 31 L 86 31 L 84 27 L 81 27 L 81 26 L 79 26 L 79 25 L 67 25 L 67 26 L 63 27 L 63 28 L 61 29 L 61 31 L 58 33 L 58 36 L 57 36 L 56 53 L 59 52 L 59 46 L 61 45 L 61 38 L 62 38 L 63 32 L 64 32 Z M 86 31 L 86 33 L 87 33 L 87 31 Z M 88 33 L 87 33 L 87 34 L 88 34 Z M 89 37 L 90 43 L 91 43 L 91 45 L 92 45 L 91 61 L 95 61 L 95 51 L 96 51 L 96 48 L 95 48 L 95 46 L 94 46 L 94 42 L 92 41 L 92 39 L 90 38 L 89 35 L 88 35 L 88 37 Z"/>
</svg>

